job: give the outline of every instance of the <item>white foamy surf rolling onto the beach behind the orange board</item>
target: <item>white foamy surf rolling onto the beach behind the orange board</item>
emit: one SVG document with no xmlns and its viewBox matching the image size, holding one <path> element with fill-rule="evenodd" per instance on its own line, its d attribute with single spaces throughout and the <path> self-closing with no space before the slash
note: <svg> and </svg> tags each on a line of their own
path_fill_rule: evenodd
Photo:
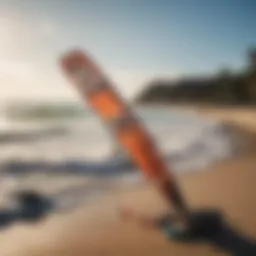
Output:
<svg viewBox="0 0 256 256">
<path fill-rule="evenodd" d="M 170 108 L 136 108 L 174 173 L 204 171 L 239 151 L 239 138 L 218 120 Z M 65 121 L 17 122 L 0 119 L 0 201 L 13 190 L 50 195 L 82 187 L 87 199 L 143 181 L 101 121 L 86 112 Z M 115 153 L 114 153 L 115 152 Z"/>
</svg>

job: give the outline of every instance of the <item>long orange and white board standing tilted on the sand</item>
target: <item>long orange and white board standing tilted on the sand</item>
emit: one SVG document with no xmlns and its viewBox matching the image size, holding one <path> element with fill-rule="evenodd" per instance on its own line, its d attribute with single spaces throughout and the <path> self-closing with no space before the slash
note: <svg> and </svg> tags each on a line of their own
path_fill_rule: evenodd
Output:
<svg viewBox="0 0 256 256">
<path fill-rule="evenodd" d="M 79 50 L 71 51 L 63 56 L 61 66 L 82 99 L 88 102 L 107 124 L 135 165 L 156 185 L 168 202 L 185 217 L 186 205 L 178 191 L 174 177 L 162 160 L 152 138 L 98 66 Z"/>
</svg>

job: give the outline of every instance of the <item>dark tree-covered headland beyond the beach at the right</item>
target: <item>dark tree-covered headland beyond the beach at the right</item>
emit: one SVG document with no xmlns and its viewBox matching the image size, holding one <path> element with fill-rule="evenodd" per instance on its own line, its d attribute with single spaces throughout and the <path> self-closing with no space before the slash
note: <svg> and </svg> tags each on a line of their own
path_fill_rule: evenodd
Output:
<svg viewBox="0 0 256 256">
<path fill-rule="evenodd" d="M 250 50 L 255 54 L 256 50 Z M 139 103 L 193 102 L 229 105 L 256 105 L 256 63 L 243 72 L 221 69 L 213 77 L 183 78 L 178 82 L 153 81 L 138 97 Z"/>
</svg>

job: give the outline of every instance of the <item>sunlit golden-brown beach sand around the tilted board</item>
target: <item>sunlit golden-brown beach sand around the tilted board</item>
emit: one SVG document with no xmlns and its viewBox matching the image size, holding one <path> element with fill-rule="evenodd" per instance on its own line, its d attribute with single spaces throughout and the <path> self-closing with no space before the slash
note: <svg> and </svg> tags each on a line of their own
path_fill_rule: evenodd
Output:
<svg viewBox="0 0 256 256">
<path fill-rule="evenodd" d="M 236 119 L 240 126 L 256 131 L 250 123 L 254 122 L 252 117 L 248 118 L 248 122 L 241 121 L 245 113 L 239 118 L 232 111 L 230 115 L 221 110 L 211 111 L 205 110 L 203 114 L 228 121 L 232 116 L 233 123 Z M 252 112 L 254 117 L 255 112 Z M 255 139 L 255 135 L 250 136 Z M 180 175 L 178 182 L 191 207 L 218 208 L 224 212 L 232 227 L 256 238 L 254 150 L 204 172 Z M 73 213 L 54 215 L 37 225 L 14 226 L 2 231 L 0 255 L 226 255 L 203 243 L 187 245 L 169 242 L 158 231 L 143 230 L 135 223 L 122 222 L 117 211 L 121 205 L 135 207 L 148 215 L 157 215 L 166 210 L 149 185 L 116 191 Z"/>
</svg>

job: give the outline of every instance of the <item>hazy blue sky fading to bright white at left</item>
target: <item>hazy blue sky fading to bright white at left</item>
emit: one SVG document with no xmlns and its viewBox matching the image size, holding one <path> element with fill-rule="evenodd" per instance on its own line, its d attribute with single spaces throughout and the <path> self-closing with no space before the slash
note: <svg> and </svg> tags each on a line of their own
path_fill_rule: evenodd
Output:
<svg viewBox="0 0 256 256">
<path fill-rule="evenodd" d="M 239 69 L 255 13 L 254 0 L 0 0 L 0 99 L 76 100 L 58 65 L 73 48 L 127 98 L 153 78 Z"/>
</svg>

